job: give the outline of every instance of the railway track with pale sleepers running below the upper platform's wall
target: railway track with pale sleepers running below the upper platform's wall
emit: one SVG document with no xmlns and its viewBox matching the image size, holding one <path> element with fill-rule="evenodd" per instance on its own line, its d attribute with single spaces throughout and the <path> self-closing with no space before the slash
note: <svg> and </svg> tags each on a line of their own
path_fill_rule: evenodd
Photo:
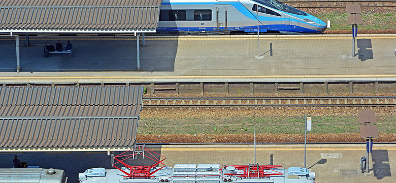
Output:
<svg viewBox="0 0 396 183">
<path fill-rule="evenodd" d="M 144 97 L 146 109 L 261 109 L 396 107 L 396 96 L 378 97 Z"/>
</svg>

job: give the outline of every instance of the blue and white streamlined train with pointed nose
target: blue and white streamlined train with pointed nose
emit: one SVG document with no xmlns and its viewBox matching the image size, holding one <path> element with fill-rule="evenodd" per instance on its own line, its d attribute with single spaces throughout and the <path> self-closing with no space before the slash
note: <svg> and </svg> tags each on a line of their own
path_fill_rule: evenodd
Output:
<svg viewBox="0 0 396 183">
<path fill-rule="evenodd" d="M 258 20 L 257 20 L 258 14 Z M 277 0 L 163 0 L 157 32 L 322 33 L 326 23 Z"/>
</svg>

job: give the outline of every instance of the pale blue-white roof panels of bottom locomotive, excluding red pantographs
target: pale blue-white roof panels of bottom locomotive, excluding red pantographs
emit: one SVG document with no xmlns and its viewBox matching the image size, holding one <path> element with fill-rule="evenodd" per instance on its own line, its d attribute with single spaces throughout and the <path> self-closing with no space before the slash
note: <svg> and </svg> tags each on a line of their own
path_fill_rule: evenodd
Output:
<svg viewBox="0 0 396 183">
<path fill-rule="evenodd" d="M 211 165 L 211 166 L 210 166 Z M 200 168 L 201 167 L 201 168 Z M 157 167 L 159 168 L 159 167 Z M 155 171 L 154 168 L 152 171 Z M 95 168 L 88 169 L 91 172 L 97 172 L 87 175 L 86 172 L 79 174 L 79 180 L 84 183 L 222 183 L 226 181 L 229 183 L 260 183 L 260 182 L 273 182 L 273 183 L 313 183 L 314 178 L 307 178 L 308 169 L 292 167 L 289 169 L 274 168 L 275 171 L 281 173 L 280 175 L 271 175 L 265 178 L 241 178 L 225 176 L 222 171 L 218 170 L 219 164 L 179 164 L 175 168 L 164 167 L 153 174 L 151 178 L 124 178 L 124 173 L 117 169 Z M 301 170 L 303 169 L 303 170 Z M 129 172 L 128 168 L 123 168 L 124 171 Z M 100 173 L 103 171 L 103 173 Z M 232 171 L 232 170 L 231 170 Z M 270 173 L 272 170 L 265 170 Z M 298 173 L 300 172 L 301 173 Z M 102 175 L 99 175 L 102 174 Z"/>
</svg>

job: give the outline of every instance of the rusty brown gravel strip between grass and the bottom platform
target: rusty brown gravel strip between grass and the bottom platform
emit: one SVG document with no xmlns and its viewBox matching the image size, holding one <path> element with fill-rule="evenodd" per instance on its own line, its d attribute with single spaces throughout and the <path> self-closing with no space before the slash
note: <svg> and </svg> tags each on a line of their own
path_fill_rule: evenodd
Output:
<svg viewBox="0 0 396 183">
<path fill-rule="evenodd" d="M 365 142 L 359 133 L 307 134 L 307 142 Z M 253 143 L 253 134 L 138 134 L 137 143 Z M 256 143 L 304 142 L 304 134 L 256 134 Z M 379 134 L 374 142 L 396 142 L 396 134 Z"/>
</svg>

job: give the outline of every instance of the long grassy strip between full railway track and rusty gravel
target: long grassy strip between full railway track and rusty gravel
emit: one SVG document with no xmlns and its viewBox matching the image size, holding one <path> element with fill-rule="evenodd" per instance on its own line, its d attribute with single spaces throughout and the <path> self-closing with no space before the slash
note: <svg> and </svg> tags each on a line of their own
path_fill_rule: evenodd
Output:
<svg viewBox="0 0 396 183">
<path fill-rule="evenodd" d="M 304 116 L 256 117 L 256 133 L 303 134 Z M 377 116 L 380 133 L 396 132 L 396 116 Z M 252 133 L 253 117 L 241 118 L 141 118 L 140 134 L 244 134 Z M 358 133 L 357 116 L 313 116 L 310 133 Z"/>
</svg>

